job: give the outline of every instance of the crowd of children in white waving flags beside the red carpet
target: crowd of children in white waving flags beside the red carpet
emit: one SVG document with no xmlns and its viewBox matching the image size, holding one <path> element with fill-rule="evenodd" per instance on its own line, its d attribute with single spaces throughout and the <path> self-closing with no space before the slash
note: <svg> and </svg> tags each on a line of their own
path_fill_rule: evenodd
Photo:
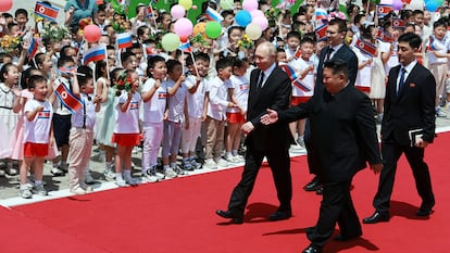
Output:
<svg viewBox="0 0 450 253">
<path fill-rule="evenodd" d="M 148 5 L 139 4 L 136 17 L 128 18 L 115 12 L 110 2 L 95 8 L 89 8 L 93 0 L 84 2 L 85 9 L 77 0 L 67 2 L 68 29 L 41 18 L 35 18 L 30 28 L 34 24 L 23 9 L 14 16 L 1 13 L 0 41 L 8 35 L 21 38 L 21 42 L 15 47 L 13 42 L 1 43 L 0 159 L 5 169 L 0 176 L 18 173 L 23 198 L 47 194 L 45 161 L 52 161 L 54 176 L 68 173 L 71 192 L 91 191 L 86 184 L 93 181 L 89 174 L 93 143 L 103 153 L 104 177 L 115 179 L 120 187 L 139 182 L 132 176 L 132 154 L 137 146 L 142 149 L 141 181 L 147 182 L 202 166 L 214 169 L 243 162 L 240 127 L 246 122 L 255 45 L 268 40 L 276 46 L 278 65 L 285 66 L 292 79 L 291 105 L 303 103 L 313 96 L 317 55 L 326 47 L 326 36 L 320 29 L 330 18 L 347 20 L 346 43 L 359 59 L 355 86 L 373 100 L 374 118 L 383 119 L 385 80 L 390 67 L 398 64 L 396 39 L 402 33 L 423 38 L 417 55 L 438 84 L 436 115 L 446 116 L 443 106 L 450 101 L 447 8 L 436 13 L 402 10 L 379 15 L 372 1 L 362 5 L 349 2 L 343 13 L 327 1 L 307 0 L 291 14 L 286 5 L 259 1 L 268 27 L 259 39 L 249 40 L 246 28 L 235 21 L 242 8 L 239 0 L 230 10 L 207 1 L 197 25 L 204 28 L 204 12 L 215 9 L 224 17 L 222 35 L 211 39 L 195 28 L 188 51 L 167 52 L 161 38 L 174 30 L 175 18 L 170 12 L 153 7 L 149 15 Z M 102 29 L 98 42 L 83 39 L 86 22 Z M 118 29 L 133 34 L 133 45 L 117 48 Z M 29 56 L 35 40 L 38 52 Z M 375 52 L 364 50 L 360 41 L 374 46 Z M 84 52 L 98 45 L 105 45 L 108 56 L 84 66 Z M 291 132 L 303 147 L 304 121 L 292 123 Z M 202 160 L 197 156 L 199 148 L 204 152 Z M 20 162 L 20 172 L 13 161 Z"/>
</svg>

